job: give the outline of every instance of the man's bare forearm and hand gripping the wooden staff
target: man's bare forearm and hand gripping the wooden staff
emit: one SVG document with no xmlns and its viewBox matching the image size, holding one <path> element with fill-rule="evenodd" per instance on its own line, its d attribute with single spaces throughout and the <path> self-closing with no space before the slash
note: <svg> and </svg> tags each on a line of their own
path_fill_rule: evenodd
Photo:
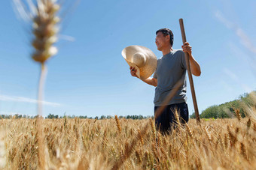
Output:
<svg viewBox="0 0 256 170">
<path fill-rule="evenodd" d="M 189 43 L 186 42 L 182 46 L 182 49 L 184 52 L 187 52 L 189 55 L 191 73 L 194 76 L 200 76 L 201 75 L 200 64 L 197 63 L 197 61 L 195 60 L 195 58 L 192 55 L 192 47 L 189 45 Z"/>
</svg>

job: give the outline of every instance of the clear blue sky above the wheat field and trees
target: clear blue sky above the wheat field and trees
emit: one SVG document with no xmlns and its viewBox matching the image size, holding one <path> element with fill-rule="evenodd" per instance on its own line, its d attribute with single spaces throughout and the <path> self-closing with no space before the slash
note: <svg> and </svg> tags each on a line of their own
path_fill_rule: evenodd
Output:
<svg viewBox="0 0 256 170">
<path fill-rule="evenodd" d="M 81 0 L 66 13 L 59 52 L 47 62 L 44 115 L 153 115 L 154 87 L 130 76 L 121 51 L 146 46 L 160 58 L 159 28 L 170 28 L 180 49 L 180 18 L 202 70 L 194 77 L 200 112 L 255 90 L 255 7 L 254 0 Z M 40 67 L 30 57 L 29 25 L 10 0 L 0 14 L 0 114 L 36 115 Z M 189 86 L 187 98 L 192 114 Z"/>
</svg>

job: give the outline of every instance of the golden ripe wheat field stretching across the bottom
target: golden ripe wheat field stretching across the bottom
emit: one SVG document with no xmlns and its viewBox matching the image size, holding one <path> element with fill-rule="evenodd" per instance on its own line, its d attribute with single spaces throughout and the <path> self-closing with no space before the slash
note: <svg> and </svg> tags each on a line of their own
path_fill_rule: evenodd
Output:
<svg viewBox="0 0 256 170">
<path fill-rule="evenodd" d="M 44 119 L 41 136 L 36 119 L 0 124 L 1 169 L 39 169 L 38 157 L 43 169 L 256 169 L 252 118 L 191 119 L 169 135 L 151 119 Z"/>
</svg>

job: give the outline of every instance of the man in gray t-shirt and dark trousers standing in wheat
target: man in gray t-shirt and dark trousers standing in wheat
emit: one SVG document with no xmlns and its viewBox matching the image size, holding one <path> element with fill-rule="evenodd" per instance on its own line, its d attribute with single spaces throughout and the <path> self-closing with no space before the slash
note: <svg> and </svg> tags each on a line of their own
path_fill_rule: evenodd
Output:
<svg viewBox="0 0 256 170">
<path fill-rule="evenodd" d="M 184 52 L 187 52 L 189 55 L 191 73 L 194 74 L 194 76 L 200 76 L 201 70 L 200 65 L 192 55 L 192 48 L 189 43 L 186 42 L 181 46 L 183 51 L 181 49 L 172 49 L 173 34 L 169 28 L 158 30 L 156 35 L 155 43 L 157 49 L 163 53 L 163 57 L 157 60 L 157 70 L 154 76 L 148 79 L 142 79 L 142 81 L 148 85 L 157 87 L 154 96 L 154 113 L 163 105 L 163 100 L 165 100 L 175 83 L 179 79 L 184 79 L 184 84 L 181 85 L 181 88 L 178 89 L 175 96 L 169 101 L 168 106 L 166 106 L 161 115 L 155 120 L 157 129 L 162 133 L 167 133 L 172 128 L 172 123 L 175 121 L 175 109 L 179 112 L 182 124 L 188 121 L 187 83 L 186 76 L 183 76 L 187 70 Z M 130 67 L 132 76 L 136 76 L 136 71 L 135 67 Z"/>
</svg>

